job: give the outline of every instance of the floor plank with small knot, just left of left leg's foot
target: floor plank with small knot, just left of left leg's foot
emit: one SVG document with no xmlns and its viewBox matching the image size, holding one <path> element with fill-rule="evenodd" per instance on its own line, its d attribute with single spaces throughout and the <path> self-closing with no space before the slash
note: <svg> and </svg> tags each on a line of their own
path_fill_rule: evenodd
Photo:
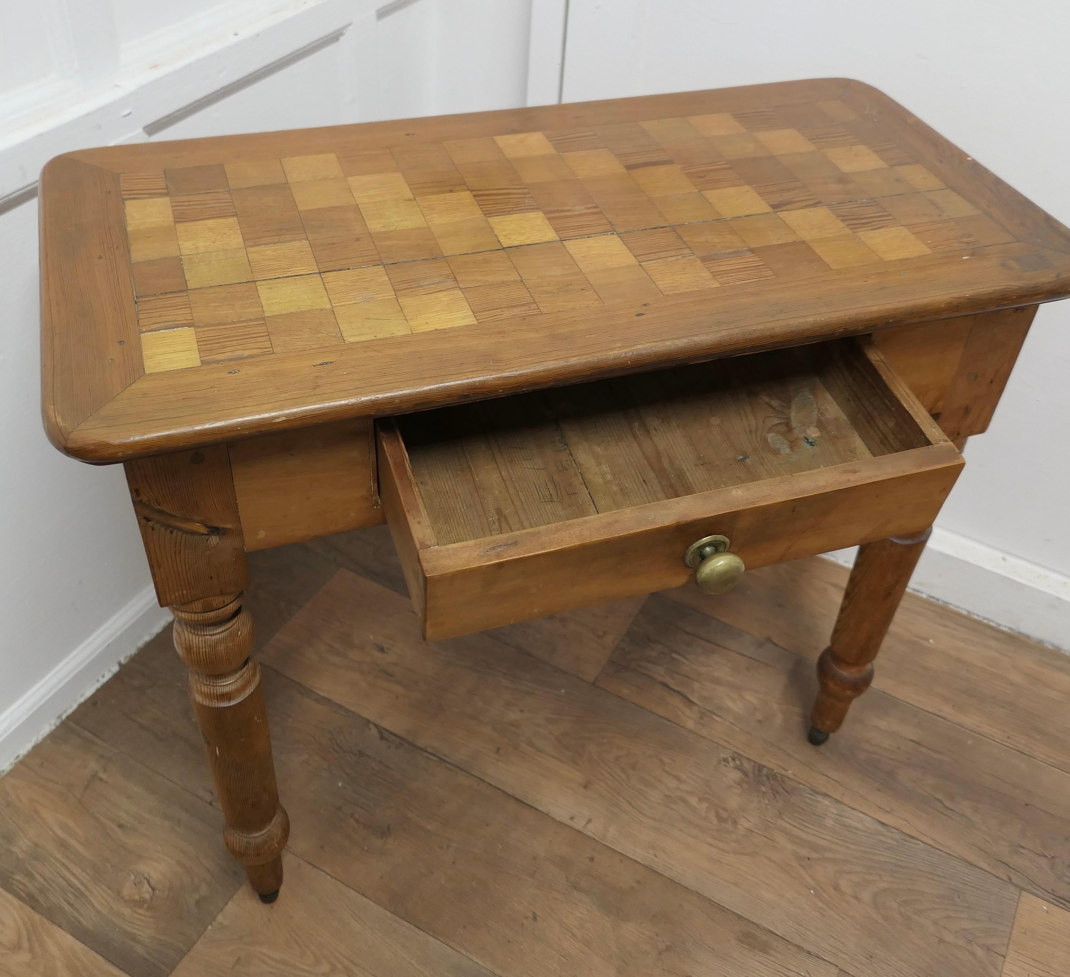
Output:
<svg viewBox="0 0 1070 977">
<path fill-rule="evenodd" d="M 132 977 L 169 974 L 245 872 L 221 814 L 64 722 L 0 778 L 0 886 Z"/>
</svg>

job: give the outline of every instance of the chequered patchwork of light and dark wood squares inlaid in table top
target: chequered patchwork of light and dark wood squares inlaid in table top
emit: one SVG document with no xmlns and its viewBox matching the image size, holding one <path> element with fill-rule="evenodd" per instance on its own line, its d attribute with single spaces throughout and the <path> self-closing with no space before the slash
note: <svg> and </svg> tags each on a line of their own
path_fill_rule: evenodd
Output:
<svg viewBox="0 0 1070 977">
<path fill-rule="evenodd" d="M 123 173 L 148 372 L 1013 241 L 841 102 Z"/>
</svg>

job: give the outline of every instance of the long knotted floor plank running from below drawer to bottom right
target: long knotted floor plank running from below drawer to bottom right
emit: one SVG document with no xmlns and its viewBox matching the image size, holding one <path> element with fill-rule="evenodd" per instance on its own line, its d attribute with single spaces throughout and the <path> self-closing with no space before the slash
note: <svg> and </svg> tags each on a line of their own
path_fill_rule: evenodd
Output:
<svg viewBox="0 0 1070 977">
<path fill-rule="evenodd" d="M 426 644 L 407 601 L 351 574 L 261 657 L 841 967 L 999 973 L 1006 882 L 493 638 Z"/>
</svg>

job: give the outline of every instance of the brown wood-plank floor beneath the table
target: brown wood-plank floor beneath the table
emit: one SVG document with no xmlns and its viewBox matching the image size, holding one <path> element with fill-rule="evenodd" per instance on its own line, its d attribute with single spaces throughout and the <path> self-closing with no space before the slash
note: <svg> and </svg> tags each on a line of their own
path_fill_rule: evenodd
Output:
<svg viewBox="0 0 1070 977">
<path fill-rule="evenodd" d="M 816 750 L 826 561 L 430 645 L 384 529 L 250 560 L 278 902 L 165 632 L 0 779 L 0 974 L 1070 974 L 1070 656 L 908 595 Z"/>
</svg>

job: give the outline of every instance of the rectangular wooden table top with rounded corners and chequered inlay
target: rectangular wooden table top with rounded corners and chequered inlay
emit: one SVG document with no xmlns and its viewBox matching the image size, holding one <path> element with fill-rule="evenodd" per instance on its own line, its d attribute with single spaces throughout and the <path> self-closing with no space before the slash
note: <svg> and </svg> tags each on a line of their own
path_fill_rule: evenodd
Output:
<svg viewBox="0 0 1070 977">
<path fill-rule="evenodd" d="M 93 461 L 1070 292 L 1066 228 L 842 79 L 88 150 L 41 199 Z"/>
</svg>

